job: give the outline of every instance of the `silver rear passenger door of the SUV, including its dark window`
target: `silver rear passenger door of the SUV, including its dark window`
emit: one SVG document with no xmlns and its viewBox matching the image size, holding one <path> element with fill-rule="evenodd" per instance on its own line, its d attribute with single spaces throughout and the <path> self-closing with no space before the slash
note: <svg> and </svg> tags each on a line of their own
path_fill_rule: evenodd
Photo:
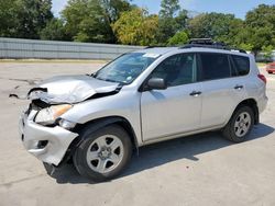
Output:
<svg viewBox="0 0 275 206">
<path fill-rule="evenodd" d="M 201 128 L 221 126 L 245 96 L 244 78 L 239 77 L 231 55 L 199 54 L 202 82 Z"/>
</svg>

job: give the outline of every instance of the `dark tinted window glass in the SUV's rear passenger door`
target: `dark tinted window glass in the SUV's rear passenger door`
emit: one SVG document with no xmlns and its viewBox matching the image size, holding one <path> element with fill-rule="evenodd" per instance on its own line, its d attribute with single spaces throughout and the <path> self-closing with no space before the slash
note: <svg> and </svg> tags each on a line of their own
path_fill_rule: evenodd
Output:
<svg viewBox="0 0 275 206">
<path fill-rule="evenodd" d="M 228 55 L 223 54 L 200 54 L 201 80 L 215 80 L 231 77 Z"/>
</svg>

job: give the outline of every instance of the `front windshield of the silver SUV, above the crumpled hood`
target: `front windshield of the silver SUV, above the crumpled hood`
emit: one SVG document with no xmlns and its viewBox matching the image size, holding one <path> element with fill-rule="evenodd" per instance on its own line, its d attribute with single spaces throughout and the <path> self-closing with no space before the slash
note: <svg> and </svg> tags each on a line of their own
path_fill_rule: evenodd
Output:
<svg viewBox="0 0 275 206">
<path fill-rule="evenodd" d="M 94 78 L 129 84 L 158 57 L 160 55 L 147 53 L 125 54 L 96 72 Z"/>
</svg>

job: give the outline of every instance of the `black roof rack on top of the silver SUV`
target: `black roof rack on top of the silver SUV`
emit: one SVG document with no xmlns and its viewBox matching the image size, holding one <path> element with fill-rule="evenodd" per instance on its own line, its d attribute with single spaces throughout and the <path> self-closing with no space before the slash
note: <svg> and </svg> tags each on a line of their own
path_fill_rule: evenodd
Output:
<svg viewBox="0 0 275 206">
<path fill-rule="evenodd" d="M 179 47 L 180 49 L 185 48 L 215 48 L 215 49 L 223 49 L 223 50 L 237 50 L 239 53 L 246 54 L 245 50 L 239 48 L 231 48 L 227 46 L 222 42 L 213 42 L 211 38 L 193 38 L 189 41 L 189 44 Z"/>
</svg>

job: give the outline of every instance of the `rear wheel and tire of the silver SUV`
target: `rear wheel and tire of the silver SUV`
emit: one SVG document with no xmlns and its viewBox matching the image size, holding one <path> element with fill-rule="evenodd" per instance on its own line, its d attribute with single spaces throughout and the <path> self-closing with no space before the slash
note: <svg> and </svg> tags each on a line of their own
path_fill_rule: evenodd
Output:
<svg viewBox="0 0 275 206">
<path fill-rule="evenodd" d="M 250 106 L 239 107 L 223 128 L 222 134 L 233 142 L 244 141 L 254 125 L 254 113 Z"/>
</svg>

